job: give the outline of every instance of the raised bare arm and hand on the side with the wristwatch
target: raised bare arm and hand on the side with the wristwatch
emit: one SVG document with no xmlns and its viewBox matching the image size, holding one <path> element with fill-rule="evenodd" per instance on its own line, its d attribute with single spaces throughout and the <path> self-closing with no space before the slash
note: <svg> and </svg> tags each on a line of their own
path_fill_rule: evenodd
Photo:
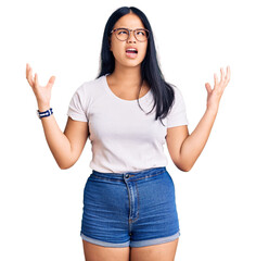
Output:
<svg viewBox="0 0 256 261">
<path fill-rule="evenodd" d="M 52 76 L 47 86 L 42 87 L 38 83 L 38 75 L 33 78 L 31 67 L 26 64 L 26 78 L 36 96 L 38 110 L 43 112 L 50 109 L 51 89 L 55 77 Z M 60 129 L 54 115 L 41 119 L 44 136 L 48 146 L 57 163 L 64 170 L 75 164 L 81 154 L 88 138 L 88 123 L 67 119 L 64 133 Z"/>
</svg>

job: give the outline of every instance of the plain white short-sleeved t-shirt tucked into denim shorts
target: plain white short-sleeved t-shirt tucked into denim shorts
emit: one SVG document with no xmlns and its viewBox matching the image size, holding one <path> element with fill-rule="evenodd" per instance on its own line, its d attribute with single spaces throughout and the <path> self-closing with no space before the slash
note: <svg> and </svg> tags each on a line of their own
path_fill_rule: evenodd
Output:
<svg viewBox="0 0 256 261">
<path fill-rule="evenodd" d="M 107 75 L 107 74 L 106 74 Z M 168 164 L 163 145 L 168 127 L 188 125 L 185 105 L 180 90 L 175 89 L 175 103 L 168 115 L 155 121 L 153 95 L 149 90 L 137 100 L 117 97 L 106 75 L 84 83 L 75 91 L 67 115 L 88 122 L 92 160 L 90 167 L 103 173 L 137 172 Z"/>
</svg>

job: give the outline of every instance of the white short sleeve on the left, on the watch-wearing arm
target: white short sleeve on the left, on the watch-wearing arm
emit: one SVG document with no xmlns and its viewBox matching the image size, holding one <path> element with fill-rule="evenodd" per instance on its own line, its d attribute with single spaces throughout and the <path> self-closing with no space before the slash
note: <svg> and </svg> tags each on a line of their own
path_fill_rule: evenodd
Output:
<svg viewBox="0 0 256 261">
<path fill-rule="evenodd" d="M 82 86 L 80 86 L 72 97 L 67 115 L 75 121 L 88 122 L 86 113 L 86 96 Z"/>
</svg>

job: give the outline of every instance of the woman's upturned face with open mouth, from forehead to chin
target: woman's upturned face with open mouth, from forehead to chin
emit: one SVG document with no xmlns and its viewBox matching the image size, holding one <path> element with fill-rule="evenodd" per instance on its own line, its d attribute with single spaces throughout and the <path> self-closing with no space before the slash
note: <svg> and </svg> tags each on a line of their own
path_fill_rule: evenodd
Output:
<svg viewBox="0 0 256 261">
<path fill-rule="evenodd" d="M 128 29 L 145 28 L 139 16 L 133 13 L 121 16 L 116 22 L 113 29 L 120 27 Z M 146 53 L 148 40 L 138 41 L 133 35 L 133 32 L 130 32 L 130 37 L 125 41 L 120 41 L 114 34 L 115 33 L 111 35 L 111 51 L 115 58 L 116 65 L 117 63 L 118 65 L 123 66 L 140 65 Z M 127 52 L 128 48 L 136 48 L 138 53 L 130 53 L 129 51 Z"/>
</svg>

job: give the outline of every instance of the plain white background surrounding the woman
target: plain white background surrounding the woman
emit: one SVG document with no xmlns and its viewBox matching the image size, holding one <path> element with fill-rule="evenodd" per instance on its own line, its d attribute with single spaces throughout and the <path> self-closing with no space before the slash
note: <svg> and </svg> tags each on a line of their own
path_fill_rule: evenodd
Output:
<svg viewBox="0 0 256 261">
<path fill-rule="evenodd" d="M 46 85 L 62 129 L 74 91 L 95 78 L 105 23 L 119 7 L 148 16 L 167 82 L 183 95 L 190 133 L 206 108 L 205 83 L 230 65 L 231 80 L 209 140 L 190 172 L 169 156 L 181 237 L 176 260 L 255 261 L 254 1 L 5 1 L 0 4 L 0 260 L 84 260 L 82 190 L 88 139 L 78 162 L 57 167 L 44 139 L 26 63 Z M 168 153 L 165 147 L 166 153 Z"/>
</svg>

